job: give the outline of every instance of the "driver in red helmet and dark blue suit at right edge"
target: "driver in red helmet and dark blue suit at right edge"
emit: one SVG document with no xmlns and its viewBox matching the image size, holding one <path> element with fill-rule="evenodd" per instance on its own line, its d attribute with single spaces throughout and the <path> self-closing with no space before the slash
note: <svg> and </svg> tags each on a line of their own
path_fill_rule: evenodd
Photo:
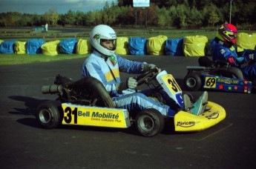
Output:
<svg viewBox="0 0 256 169">
<path fill-rule="evenodd" d="M 216 37 L 211 41 L 213 61 L 226 60 L 232 66 L 240 68 L 247 80 L 256 79 L 256 50 L 237 51 L 237 28 L 233 24 L 222 24 L 217 29 Z M 246 64 L 246 66 L 244 66 Z"/>
</svg>

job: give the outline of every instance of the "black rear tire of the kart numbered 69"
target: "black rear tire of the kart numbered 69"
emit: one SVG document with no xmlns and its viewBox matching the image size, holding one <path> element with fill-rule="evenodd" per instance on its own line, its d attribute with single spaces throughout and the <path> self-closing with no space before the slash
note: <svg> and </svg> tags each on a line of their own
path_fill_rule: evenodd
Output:
<svg viewBox="0 0 256 169">
<path fill-rule="evenodd" d="M 184 87 L 189 91 L 200 90 L 203 86 L 203 80 L 200 73 L 188 73 L 183 79 Z"/>
</svg>

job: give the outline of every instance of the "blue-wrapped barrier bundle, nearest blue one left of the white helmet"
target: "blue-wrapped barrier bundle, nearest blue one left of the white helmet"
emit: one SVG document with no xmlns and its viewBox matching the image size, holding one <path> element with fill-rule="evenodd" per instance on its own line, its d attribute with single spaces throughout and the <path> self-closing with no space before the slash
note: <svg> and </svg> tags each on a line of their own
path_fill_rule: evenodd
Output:
<svg viewBox="0 0 256 169">
<path fill-rule="evenodd" d="M 72 54 L 76 53 L 76 39 L 66 39 L 59 42 L 59 53 Z"/>
</svg>

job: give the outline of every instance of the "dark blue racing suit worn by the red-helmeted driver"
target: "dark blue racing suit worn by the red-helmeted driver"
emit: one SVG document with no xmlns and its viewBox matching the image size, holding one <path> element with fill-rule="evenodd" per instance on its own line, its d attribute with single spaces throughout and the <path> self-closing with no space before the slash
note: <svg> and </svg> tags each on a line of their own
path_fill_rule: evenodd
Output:
<svg viewBox="0 0 256 169">
<path fill-rule="evenodd" d="M 241 52 L 237 52 L 236 45 L 226 44 L 226 42 L 222 42 L 217 38 L 211 41 L 211 50 L 213 61 L 229 61 L 229 58 L 233 57 L 234 64 L 232 66 L 240 68 L 245 79 L 252 80 L 256 78 L 256 62 L 250 64 L 250 62 L 256 60 L 256 50 L 244 49 Z M 247 64 L 242 67 L 244 63 Z"/>
</svg>

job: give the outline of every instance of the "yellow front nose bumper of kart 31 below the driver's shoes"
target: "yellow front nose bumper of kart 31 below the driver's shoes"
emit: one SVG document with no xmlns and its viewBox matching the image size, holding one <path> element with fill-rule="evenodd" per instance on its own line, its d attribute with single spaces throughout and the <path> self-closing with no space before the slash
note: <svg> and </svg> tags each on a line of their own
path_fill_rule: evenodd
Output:
<svg viewBox="0 0 256 169">
<path fill-rule="evenodd" d="M 226 110 L 214 102 L 208 102 L 206 112 L 196 116 L 180 111 L 174 116 L 175 131 L 200 131 L 216 125 L 226 118 Z"/>
</svg>

